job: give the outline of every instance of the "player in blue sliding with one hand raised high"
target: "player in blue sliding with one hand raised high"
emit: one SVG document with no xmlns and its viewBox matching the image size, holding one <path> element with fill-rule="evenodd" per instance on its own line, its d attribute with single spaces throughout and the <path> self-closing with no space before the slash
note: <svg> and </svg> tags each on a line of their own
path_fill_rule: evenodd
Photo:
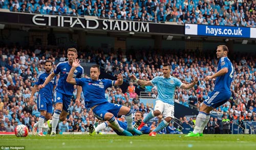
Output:
<svg viewBox="0 0 256 150">
<path fill-rule="evenodd" d="M 141 135 L 142 133 L 133 127 L 132 111 L 126 106 L 110 103 L 105 98 L 105 90 L 112 86 L 121 85 L 123 77 L 117 75 L 117 80 L 99 79 L 99 66 L 95 65 L 90 68 L 91 78 L 72 78 L 75 69 L 79 66 L 79 60 L 73 62 L 69 72 L 67 82 L 77 84 L 82 87 L 84 94 L 84 103 L 86 108 L 91 108 L 94 115 L 100 120 L 108 120 L 116 130 L 124 136 L 133 136 L 132 134 Z M 125 115 L 127 121 L 126 130 L 118 124 L 115 117 Z"/>
</svg>

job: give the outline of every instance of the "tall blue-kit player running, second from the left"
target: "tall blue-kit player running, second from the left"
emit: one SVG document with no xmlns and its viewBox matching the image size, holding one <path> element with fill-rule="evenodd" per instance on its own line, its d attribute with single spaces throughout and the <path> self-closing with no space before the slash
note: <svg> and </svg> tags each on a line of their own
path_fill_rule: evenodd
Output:
<svg viewBox="0 0 256 150">
<path fill-rule="evenodd" d="M 77 58 L 77 50 L 75 48 L 68 49 L 68 61 L 59 62 L 56 69 L 47 77 L 44 84 L 39 85 L 39 89 L 44 88 L 55 75 L 60 74 L 57 87 L 54 93 L 55 112 L 52 116 L 52 121 L 48 122 L 49 128 L 52 129 L 51 136 L 56 135 L 56 127 L 60 121 L 67 118 L 69 112 L 69 106 L 71 98 L 74 92 L 74 85 L 66 81 L 73 61 Z M 83 68 L 79 65 L 73 70 L 72 78 L 81 78 L 83 74 Z M 80 104 L 81 87 L 77 87 L 77 98 L 76 103 Z M 63 109 L 63 110 L 62 110 Z"/>
</svg>

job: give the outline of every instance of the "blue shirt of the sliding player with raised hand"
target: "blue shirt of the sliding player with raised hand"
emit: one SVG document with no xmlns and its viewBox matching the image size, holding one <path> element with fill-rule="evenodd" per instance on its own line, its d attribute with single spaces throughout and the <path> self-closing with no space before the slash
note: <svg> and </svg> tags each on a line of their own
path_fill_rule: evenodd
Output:
<svg viewBox="0 0 256 150">
<path fill-rule="evenodd" d="M 76 84 L 82 87 L 86 108 L 108 102 L 105 90 L 114 86 L 115 81 L 110 79 L 92 80 L 91 78 L 76 78 Z"/>
</svg>

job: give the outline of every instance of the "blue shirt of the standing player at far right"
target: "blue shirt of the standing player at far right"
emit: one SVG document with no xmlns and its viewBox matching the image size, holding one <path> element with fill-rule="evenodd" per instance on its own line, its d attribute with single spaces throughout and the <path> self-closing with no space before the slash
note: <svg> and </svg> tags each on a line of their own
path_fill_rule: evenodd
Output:
<svg viewBox="0 0 256 150">
<path fill-rule="evenodd" d="M 230 85 L 233 80 L 234 69 L 231 61 L 227 57 L 221 57 L 217 72 L 223 68 L 227 68 L 228 72 L 216 78 L 214 90 L 231 94 Z"/>
</svg>

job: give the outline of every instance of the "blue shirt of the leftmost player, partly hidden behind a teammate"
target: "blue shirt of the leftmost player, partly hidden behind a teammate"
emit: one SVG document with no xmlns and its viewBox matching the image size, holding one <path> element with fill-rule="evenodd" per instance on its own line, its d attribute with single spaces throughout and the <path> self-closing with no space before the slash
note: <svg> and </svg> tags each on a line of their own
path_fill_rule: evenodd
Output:
<svg viewBox="0 0 256 150">
<path fill-rule="evenodd" d="M 46 78 L 49 76 L 50 74 L 46 73 L 46 72 L 42 72 L 40 74 L 37 75 L 37 80 L 35 82 L 36 85 L 40 85 L 40 84 L 44 84 Z M 45 86 L 45 88 L 42 88 L 39 93 L 42 95 L 46 95 L 49 98 L 52 98 L 53 96 L 53 87 L 54 85 L 56 85 L 56 77 L 53 77 L 53 79 Z"/>
</svg>

